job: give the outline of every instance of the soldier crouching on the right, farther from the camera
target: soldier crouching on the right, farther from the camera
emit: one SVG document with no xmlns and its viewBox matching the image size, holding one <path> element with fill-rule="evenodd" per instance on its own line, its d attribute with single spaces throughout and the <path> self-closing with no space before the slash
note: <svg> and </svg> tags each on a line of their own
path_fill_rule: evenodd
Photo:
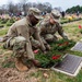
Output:
<svg viewBox="0 0 82 82">
<path fill-rule="evenodd" d="M 60 20 L 59 11 L 52 10 L 50 14 L 47 14 L 45 19 L 40 21 L 39 28 L 44 44 L 54 40 L 56 42 L 57 40 L 57 37 L 55 35 L 56 32 L 58 32 L 62 38 L 68 39 L 59 20 Z"/>
</svg>

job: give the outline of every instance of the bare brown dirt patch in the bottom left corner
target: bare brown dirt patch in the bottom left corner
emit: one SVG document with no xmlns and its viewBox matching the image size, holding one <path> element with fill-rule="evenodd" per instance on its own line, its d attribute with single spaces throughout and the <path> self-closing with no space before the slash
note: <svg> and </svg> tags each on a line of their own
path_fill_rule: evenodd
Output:
<svg viewBox="0 0 82 82">
<path fill-rule="evenodd" d="M 38 82 L 38 79 L 28 77 L 31 72 L 36 72 L 35 68 L 27 72 L 20 72 L 14 68 L 0 68 L 0 82 Z"/>
</svg>

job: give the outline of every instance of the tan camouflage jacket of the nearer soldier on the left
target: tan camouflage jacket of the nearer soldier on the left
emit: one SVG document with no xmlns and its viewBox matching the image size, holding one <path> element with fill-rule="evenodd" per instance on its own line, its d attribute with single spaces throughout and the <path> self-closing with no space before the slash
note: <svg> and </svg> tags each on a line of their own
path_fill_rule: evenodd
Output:
<svg viewBox="0 0 82 82">
<path fill-rule="evenodd" d="M 16 21 L 13 23 L 9 31 L 8 34 L 3 37 L 4 40 L 9 39 L 10 37 L 16 37 L 16 36 L 23 36 L 26 38 L 28 45 L 27 45 L 27 54 L 33 54 L 32 51 L 32 45 L 30 42 L 30 36 L 34 35 L 35 38 L 40 43 L 40 48 L 42 50 L 45 50 L 45 46 L 40 39 L 39 36 L 39 28 L 38 27 L 33 27 L 32 24 L 30 23 L 28 17 L 24 17 L 20 21 Z"/>
</svg>

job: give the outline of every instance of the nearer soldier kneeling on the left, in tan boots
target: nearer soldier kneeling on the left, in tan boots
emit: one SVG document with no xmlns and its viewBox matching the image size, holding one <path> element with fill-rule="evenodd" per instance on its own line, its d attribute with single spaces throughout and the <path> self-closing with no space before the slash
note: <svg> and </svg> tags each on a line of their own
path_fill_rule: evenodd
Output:
<svg viewBox="0 0 82 82">
<path fill-rule="evenodd" d="M 42 19 L 40 11 L 36 8 L 30 8 L 28 15 L 20 21 L 16 21 L 9 28 L 8 34 L 3 37 L 4 48 L 13 50 L 15 57 L 15 67 L 20 71 L 25 71 L 28 68 L 23 63 L 23 57 L 27 57 L 34 65 L 38 66 L 32 50 L 31 36 L 40 43 L 40 49 L 46 52 L 46 48 L 39 36 L 39 27 L 35 25 Z"/>
</svg>

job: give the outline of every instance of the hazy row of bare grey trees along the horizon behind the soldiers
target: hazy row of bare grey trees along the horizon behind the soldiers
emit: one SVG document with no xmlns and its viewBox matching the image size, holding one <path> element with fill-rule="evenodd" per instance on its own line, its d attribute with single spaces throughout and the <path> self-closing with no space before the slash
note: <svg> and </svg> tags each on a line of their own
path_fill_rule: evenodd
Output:
<svg viewBox="0 0 82 82">
<path fill-rule="evenodd" d="M 17 12 L 24 12 L 24 14 L 26 15 L 27 11 L 30 8 L 38 8 L 39 10 L 42 10 L 43 12 L 50 12 L 51 11 L 51 4 L 49 2 L 45 2 L 45 3 L 35 3 L 35 2 L 27 2 L 28 0 L 20 0 L 20 3 L 14 4 L 12 2 L 12 0 L 9 0 L 8 7 L 2 5 L 0 9 L 0 13 L 8 13 L 7 10 L 9 11 L 9 13 L 17 13 Z"/>
</svg>

